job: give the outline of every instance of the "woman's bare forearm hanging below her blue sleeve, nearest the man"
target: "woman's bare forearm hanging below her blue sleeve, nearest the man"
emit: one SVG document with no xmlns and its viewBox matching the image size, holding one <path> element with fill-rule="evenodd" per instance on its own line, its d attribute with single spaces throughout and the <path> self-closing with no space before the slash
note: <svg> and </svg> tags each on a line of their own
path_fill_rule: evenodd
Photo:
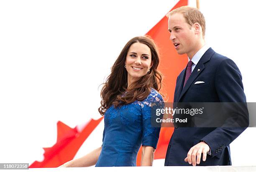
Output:
<svg viewBox="0 0 256 172">
<path fill-rule="evenodd" d="M 152 166 L 155 149 L 150 146 L 142 147 L 141 166 Z"/>
</svg>

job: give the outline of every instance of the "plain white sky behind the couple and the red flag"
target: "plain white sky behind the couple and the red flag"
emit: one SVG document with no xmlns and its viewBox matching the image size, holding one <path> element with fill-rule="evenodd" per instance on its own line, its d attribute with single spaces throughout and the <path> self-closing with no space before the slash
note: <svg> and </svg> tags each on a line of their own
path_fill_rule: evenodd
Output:
<svg viewBox="0 0 256 172">
<path fill-rule="evenodd" d="M 98 119 L 98 86 L 125 43 L 177 2 L 0 0 L 0 163 L 43 160 L 57 121 L 73 128 Z M 247 101 L 256 102 L 255 2 L 200 0 L 200 10 L 207 43 L 236 62 Z M 100 147 L 102 131 L 101 122 L 76 157 Z M 255 133 L 248 128 L 230 145 L 233 165 L 256 165 Z"/>
</svg>

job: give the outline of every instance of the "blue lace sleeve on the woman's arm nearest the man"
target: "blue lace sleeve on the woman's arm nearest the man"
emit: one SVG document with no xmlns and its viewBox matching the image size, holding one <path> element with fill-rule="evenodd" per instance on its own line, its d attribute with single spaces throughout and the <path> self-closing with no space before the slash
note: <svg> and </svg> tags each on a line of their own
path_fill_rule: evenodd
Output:
<svg viewBox="0 0 256 172">
<path fill-rule="evenodd" d="M 157 92 L 151 93 L 148 98 L 143 102 L 142 108 L 142 146 L 151 146 L 156 149 L 159 139 L 161 127 L 154 127 L 151 124 L 151 110 L 154 106 L 164 106 L 164 101 L 161 94 Z"/>
</svg>

